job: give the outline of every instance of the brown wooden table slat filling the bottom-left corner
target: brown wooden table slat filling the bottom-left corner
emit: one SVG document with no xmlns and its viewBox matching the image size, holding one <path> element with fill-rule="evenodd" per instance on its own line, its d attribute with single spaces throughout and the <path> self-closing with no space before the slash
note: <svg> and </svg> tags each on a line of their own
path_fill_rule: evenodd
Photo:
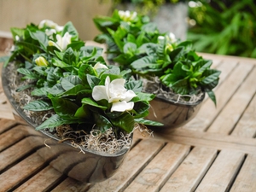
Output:
<svg viewBox="0 0 256 192">
<path fill-rule="evenodd" d="M 32 176 L 35 172 L 44 166 L 44 160 L 38 154 L 32 154 L 25 160 L 11 167 L 7 172 L 0 175 L 1 190 L 8 191 L 19 185 L 27 177 Z M 4 182 L 3 182 L 4 181 Z"/>
</svg>

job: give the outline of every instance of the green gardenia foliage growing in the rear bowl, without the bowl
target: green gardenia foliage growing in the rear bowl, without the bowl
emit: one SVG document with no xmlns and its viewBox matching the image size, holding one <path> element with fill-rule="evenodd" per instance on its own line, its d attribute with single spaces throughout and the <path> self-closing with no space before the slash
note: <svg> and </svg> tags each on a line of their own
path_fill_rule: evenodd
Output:
<svg viewBox="0 0 256 192">
<path fill-rule="evenodd" d="M 201 99 L 201 93 L 207 92 L 216 104 L 212 89 L 218 84 L 220 71 L 210 68 L 212 61 L 197 55 L 190 42 L 176 39 L 172 32 L 160 34 L 154 23 L 143 22 L 142 15 L 125 11 L 128 21 L 123 15 L 116 10 L 112 17 L 94 20 L 102 32 L 95 40 L 107 44 L 113 61 L 122 69 L 131 69 L 134 76 L 154 81 L 160 90 L 144 85 L 147 92 L 167 99 L 170 97 L 166 95 L 172 93 L 178 95 L 176 98 L 183 96 L 184 101 L 197 95 Z M 113 57 L 113 53 L 118 55 Z"/>
</svg>

